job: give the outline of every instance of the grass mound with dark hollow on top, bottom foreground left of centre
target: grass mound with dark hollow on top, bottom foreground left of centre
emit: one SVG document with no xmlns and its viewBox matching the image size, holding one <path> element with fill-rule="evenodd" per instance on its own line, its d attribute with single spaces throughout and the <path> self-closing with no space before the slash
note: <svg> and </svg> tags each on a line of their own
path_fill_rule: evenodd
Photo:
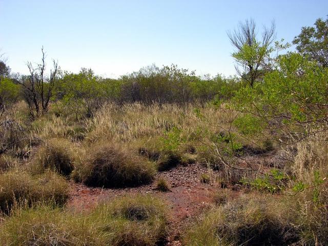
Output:
<svg viewBox="0 0 328 246">
<path fill-rule="evenodd" d="M 117 223 L 106 228 L 107 232 L 116 231 L 109 245 L 158 245 L 168 235 L 166 206 L 158 198 L 126 196 L 114 200 L 109 207 L 100 207 L 102 211 L 110 213 Z"/>
</svg>

